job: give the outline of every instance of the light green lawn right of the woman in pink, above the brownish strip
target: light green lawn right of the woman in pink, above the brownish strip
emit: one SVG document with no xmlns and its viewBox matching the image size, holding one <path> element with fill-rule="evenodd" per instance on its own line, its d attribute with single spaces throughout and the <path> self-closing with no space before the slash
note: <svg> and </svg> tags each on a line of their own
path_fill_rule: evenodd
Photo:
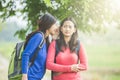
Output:
<svg viewBox="0 0 120 80">
<path fill-rule="evenodd" d="M 85 48 L 90 67 L 120 67 L 120 44 L 85 45 Z"/>
</svg>

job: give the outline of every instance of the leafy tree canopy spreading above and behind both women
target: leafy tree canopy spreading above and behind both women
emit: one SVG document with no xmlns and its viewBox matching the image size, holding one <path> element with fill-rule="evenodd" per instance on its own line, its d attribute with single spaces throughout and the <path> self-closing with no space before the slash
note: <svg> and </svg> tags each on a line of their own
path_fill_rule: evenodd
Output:
<svg viewBox="0 0 120 80">
<path fill-rule="evenodd" d="M 0 17 L 5 20 L 18 14 L 24 16 L 23 19 L 28 21 L 28 27 L 16 32 L 20 38 L 24 38 L 28 30 L 35 30 L 36 20 L 46 12 L 59 20 L 73 16 L 79 30 L 99 32 L 104 31 L 112 23 L 120 25 L 120 7 L 117 6 L 119 9 L 114 10 L 117 13 L 111 10 L 115 8 L 111 6 L 115 1 L 117 0 L 1 0 Z"/>
</svg>

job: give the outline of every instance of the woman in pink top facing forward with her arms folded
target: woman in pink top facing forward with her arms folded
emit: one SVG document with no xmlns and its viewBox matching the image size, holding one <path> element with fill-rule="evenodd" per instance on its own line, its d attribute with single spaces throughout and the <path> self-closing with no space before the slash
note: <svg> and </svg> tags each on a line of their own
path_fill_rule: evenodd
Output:
<svg viewBox="0 0 120 80">
<path fill-rule="evenodd" d="M 80 48 L 77 55 L 78 44 Z M 47 55 L 46 67 L 54 72 L 52 80 L 81 80 L 80 72 L 87 69 L 87 58 L 83 45 L 78 43 L 77 28 L 72 18 L 62 21 L 57 45 L 57 56 L 56 41 L 50 44 Z"/>
</svg>

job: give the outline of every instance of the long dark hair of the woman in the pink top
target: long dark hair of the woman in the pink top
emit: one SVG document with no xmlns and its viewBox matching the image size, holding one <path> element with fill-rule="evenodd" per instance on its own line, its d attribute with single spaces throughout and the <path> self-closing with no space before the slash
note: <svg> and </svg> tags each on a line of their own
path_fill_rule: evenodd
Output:
<svg viewBox="0 0 120 80">
<path fill-rule="evenodd" d="M 73 18 L 67 17 L 67 18 L 65 18 L 61 22 L 60 29 L 63 26 L 63 24 L 64 24 L 65 21 L 71 21 L 71 22 L 73 22 L 74 27 L 76 28 L 76 32 L 73 33 L 73 35 L 72 35 L 72 37 L 71 37 L 71 39 L 69 41 L 70 51 L 74 52 L 75 49 L 77 48 L 77 44 L 78 44 L 78 32 L 77 32 L 76 22 L 75 22 L 75 20 Z M 68 47 L 67 44 L 65 43 L 64 35 L 61 32 L 61 30 L 60 30 L 60 34 L 59 34 L 59 39 L 57 40 L 57 44 L 59 45 L 58 48 L 59 48 L 60 51 L 63 51 L 62 47 L 65 47 L 65 48 Z"/>
</svg>

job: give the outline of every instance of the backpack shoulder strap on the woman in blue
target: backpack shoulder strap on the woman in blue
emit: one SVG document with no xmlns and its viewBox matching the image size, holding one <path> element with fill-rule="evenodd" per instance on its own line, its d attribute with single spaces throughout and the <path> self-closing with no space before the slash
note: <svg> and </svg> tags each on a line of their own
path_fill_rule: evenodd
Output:
<svg viewBox="0 0 120 80">
<path fill-rule="evenodd" d="M 42 37 L 43 37 L 43 38 L 42 38 L 42 40 L 41 40 L 41 42 L 40 42 L 40 45 L 36 48 L 33 57 L 32 57 L 31 60 L 30 60 L 29 67 L 33 65 L 33 63 L 34 63 L 34 61 L 35 61 L 35 59 L 36 59 L 36 57 L 37 57 L 37 55 L 38 55 L 39 50 L 43 47 L 43 44 L 44 44 L 44 35 L 43 35 L 42 32 L 39 32 L 39 33 L 42 34 Z"/>
</svg>

